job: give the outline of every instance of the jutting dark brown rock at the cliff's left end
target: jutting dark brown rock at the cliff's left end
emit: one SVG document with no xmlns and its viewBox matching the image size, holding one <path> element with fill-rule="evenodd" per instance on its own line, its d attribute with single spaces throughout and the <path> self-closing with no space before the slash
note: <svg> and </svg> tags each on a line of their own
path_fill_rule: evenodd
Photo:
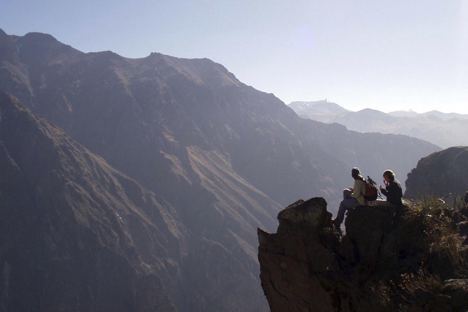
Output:
<svg viewBox="0 0 468 312">
<path fill-rule="evenodd" d="M 276 234 L 258 229 L 260 279 L 271 312 L 333 311 L 340 294 L 330 292 L 326 276 L 337 266 L 339 234 L 326 208 L 323 198 L 297 201 L 279 213 Z"/>
</svg>

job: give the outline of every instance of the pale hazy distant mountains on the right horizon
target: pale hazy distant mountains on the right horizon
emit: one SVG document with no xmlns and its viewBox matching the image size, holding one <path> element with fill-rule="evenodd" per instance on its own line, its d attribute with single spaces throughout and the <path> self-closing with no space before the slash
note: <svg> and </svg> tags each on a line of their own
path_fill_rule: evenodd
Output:
<svg viewBox="0 0 468 312">
<path fill-rule="evenodd" d="M 468 145 L 468 115 L 428 111 L 392 111 L 384 113 L 372 109 L 348 111 L 327 100 L 292 102 L 289 104 L 300 117 L 337 122 L 358 132 L 405 134 L 429 141 L 442 148 Z"/>
</svg>

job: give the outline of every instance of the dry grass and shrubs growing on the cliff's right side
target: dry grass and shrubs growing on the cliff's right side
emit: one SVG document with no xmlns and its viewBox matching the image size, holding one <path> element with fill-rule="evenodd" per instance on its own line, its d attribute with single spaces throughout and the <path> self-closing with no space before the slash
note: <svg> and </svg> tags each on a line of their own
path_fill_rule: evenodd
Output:
<svg viewBox="0 0 468 312">
<path fill-rule="evenodd" d="M 465 238 L 457 228 L 457 222 L 463 219 L 462 209 L 466 209 L 460 201 L 455 199 L 449 203 L 420 196 L 405 208 L 406 214 L 395 228 L 399 231 L 395 247 L 399 248 L 399 253 L 413 253 L 410 257 L 413 260 L 405 263 L 398 274 L 391 274 L 387 282 L 375 284 L 381 305 L 410 311 L 409 307 L 421 297 L 439 295 L 444 280 L 467 278 L 467 253 L 462 252 L 466 248 Z"/>
</svg>

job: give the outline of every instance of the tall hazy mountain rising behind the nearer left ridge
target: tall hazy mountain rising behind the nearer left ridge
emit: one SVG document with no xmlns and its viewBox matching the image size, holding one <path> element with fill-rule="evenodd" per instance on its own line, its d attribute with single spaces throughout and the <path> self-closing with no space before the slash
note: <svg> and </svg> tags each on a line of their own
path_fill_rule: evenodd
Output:
<svg viewBox="0 0 468 312">
<path fill-rule="evenodd" d="M 209 59 L 82 53 L 50 35 L 3 31 L 0 56 L 0 89 L 154 192 L 200 238 L 184 288 L 165 283 L 180 311 L 268 309 L 257 296 L 257 226 L 273 230 L 281 207 L 310 193 L 337 206 L 354 166 L 402 175 L 439 150 L 300 119 Z"/>
</svg>

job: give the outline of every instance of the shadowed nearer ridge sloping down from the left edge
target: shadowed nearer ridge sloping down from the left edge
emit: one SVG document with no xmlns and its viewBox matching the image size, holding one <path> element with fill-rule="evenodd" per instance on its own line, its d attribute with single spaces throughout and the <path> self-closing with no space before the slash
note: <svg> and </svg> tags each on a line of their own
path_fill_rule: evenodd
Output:
<svg viewBox="0 0 468 312">
<path fill-rule="evenodd" d="M 195 234 L 2 92 L 0 170 L 0 311 L 264 310 L 245 229 L 232 249 Z"/>
</svg>

